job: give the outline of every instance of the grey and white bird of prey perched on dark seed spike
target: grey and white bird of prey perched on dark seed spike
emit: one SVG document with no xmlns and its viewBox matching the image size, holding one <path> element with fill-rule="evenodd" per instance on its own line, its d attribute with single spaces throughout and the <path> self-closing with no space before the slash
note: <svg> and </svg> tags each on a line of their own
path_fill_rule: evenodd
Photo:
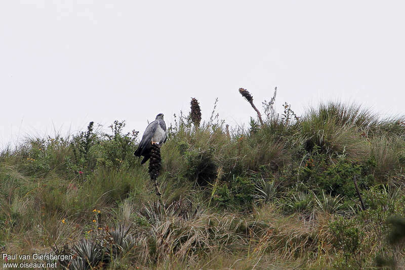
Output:
<svg viewBox="0 0 405 270">
<path fill-rule="evenodd" d="M 163 120 L 163 113 L 159 113 L 156 116 L 156 120 L 150 123 L 145 129 L 142 140 L 134 155 L 137 157 L 143 156 L 144 158 L 141 161 L 141 164 L 144 164 L 150 158 L 150 148 L 152 144 L 156 143 L 161 145 L 166 142 L 166 139 L 166 123 Z"/>
</svg>

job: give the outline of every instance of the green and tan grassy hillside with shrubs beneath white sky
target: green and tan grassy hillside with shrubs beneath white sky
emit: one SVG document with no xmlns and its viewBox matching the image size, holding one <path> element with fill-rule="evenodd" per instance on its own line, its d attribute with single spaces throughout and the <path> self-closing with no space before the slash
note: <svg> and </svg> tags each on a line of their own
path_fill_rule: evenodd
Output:
<svg viewBox="0 0 405 270">
<path fill-rule="evenodd" d="M 277 114 L 274 97 L 263 125 L 176 117 L 164 205 L 125 122 L 3 150 L 3 253 L 71 254 L 69 269 L 404 267 L 405 119 L 336 102 Z"/>
</svg>

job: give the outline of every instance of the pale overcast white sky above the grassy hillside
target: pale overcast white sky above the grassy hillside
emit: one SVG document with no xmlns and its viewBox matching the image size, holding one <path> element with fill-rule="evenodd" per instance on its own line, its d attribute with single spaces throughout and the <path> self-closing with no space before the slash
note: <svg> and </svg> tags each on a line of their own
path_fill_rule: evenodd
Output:
<svg viewBox="0 0 405 270">
<path fill-rule="evenodd" d="M 126 120 L 144 131 L 199 100 L 248 123 L 278 87 L 302 113 L 340 99 L 405 114 L 402 1 L 0 2 L 0 146 Z"/>
</svg>

